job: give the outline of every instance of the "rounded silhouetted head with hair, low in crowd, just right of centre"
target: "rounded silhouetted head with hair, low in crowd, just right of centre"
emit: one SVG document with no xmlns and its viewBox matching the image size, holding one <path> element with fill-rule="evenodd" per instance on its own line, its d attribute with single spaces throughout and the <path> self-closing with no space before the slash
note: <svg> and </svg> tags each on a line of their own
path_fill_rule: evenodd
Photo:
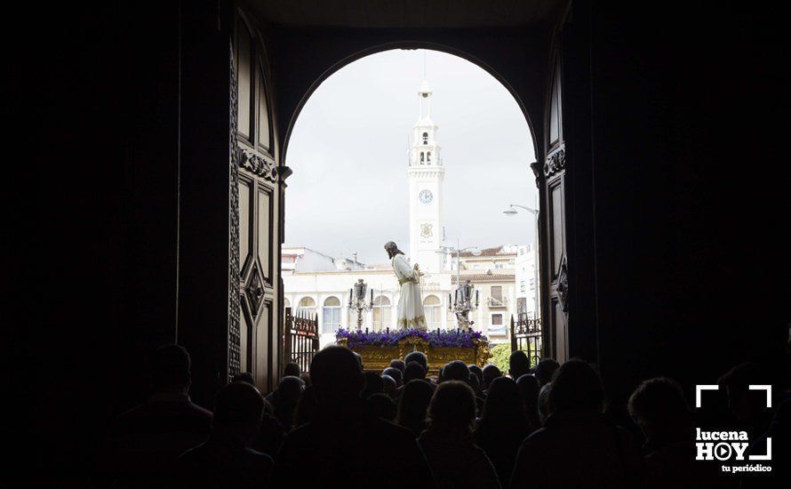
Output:
<svg viewBox="0 0 791 489">
<path fill-rule="evenodd" d="M 475 429 L 475 393 L 465 382 L 446 381 L 428 405 L 428 429 L 470 433 Z"/>
</svg>

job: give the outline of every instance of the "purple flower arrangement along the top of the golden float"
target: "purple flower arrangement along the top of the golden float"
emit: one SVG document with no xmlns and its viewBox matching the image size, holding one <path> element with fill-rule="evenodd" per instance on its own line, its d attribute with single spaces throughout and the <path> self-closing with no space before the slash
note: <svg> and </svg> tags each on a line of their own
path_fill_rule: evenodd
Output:
<svg viewBox="0 0 791 489">
<path fill-rule="evenodd" d="M 345 338 L 349 348 L 372 346 L 372 347 L 388 347 L 395 346 L 402 340 L 407 338 L 419 338 L 428 341 L 431 347 L 461 347 L 471 348 L 476 343 L 483 341 L 488 342 L 482 333 L 477 331 L 461 331 L 461 330 L 434 330 L 434 331 L 421 331 L 416 329 L 398 330 L 398 331 L 382 331 L 382 332 L 369 332 L 366 330 L 350 331 L 343 328 L 338 330 L 335 334 L 335 339 L 340 340 Z"/>
</svg>

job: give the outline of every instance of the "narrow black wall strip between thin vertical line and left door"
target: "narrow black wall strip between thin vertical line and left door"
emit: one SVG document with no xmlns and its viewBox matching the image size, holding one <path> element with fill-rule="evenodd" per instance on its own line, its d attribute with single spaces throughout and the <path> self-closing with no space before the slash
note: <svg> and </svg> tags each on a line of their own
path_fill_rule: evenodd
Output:
<svg viewBox="0 0 791 489">
<path fill-rule="evenodd" d="M 228 381 L 234 11 L 231 2 L 182 8 L 178 340 L 192 356 L 190 396 L 211 407 Z"/>
</svg>

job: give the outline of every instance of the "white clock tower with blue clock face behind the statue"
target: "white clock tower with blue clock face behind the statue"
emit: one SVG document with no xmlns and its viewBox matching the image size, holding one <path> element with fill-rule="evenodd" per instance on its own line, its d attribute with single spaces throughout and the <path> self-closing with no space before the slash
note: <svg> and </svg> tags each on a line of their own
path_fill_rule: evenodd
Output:
<svg viewBox="0 0 791 489">
<path fill-rule="evenodd" d="M 412 264 L 429 273 L 443 271 L 443 178 L 445 168 L 436 143 L 439 129 L 431 119 L 431 89 L 418 91 L 419 117 L 409 149 L 409 253 Z"/>
</svg>

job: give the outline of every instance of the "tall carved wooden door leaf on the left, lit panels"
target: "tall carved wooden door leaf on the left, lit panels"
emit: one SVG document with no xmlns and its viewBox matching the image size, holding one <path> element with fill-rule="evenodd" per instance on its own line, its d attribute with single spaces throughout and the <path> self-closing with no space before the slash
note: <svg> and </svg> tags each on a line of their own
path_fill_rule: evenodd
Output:
<svg viewBox="0 0 791 489">
<path fill-rule="evenodd" d="M 239 317 L 238 331 L 230 338 L 237 351 L 230 357 L 232 370 L 252 373 L 259 389 L 268 392 L 276 386 L 282 347 L 281 311 L 276 307 L 282 192 L 265 45 L 241 12 L 234 52 Z"/>
</svg>

